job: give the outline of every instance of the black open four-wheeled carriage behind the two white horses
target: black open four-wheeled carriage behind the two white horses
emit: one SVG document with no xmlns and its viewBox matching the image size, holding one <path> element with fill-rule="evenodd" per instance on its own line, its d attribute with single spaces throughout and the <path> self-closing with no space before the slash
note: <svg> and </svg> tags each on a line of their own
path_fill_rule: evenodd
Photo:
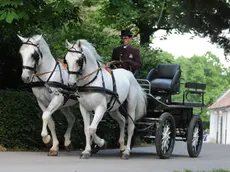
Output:
<svg viewBox="0 0 230 172">
<path fill-rule="evenodd" d="M 178 64 L 160 64 L 152 69 L 146 79 L 137 79 L 148 97 L 147 114 L 135 123 L 135 135 L 143 139 L 155 139 L 156 151 L 160 158 L 169 158 L 175 141 L 187 142 L 190 157 L 197 157 L 202 148 L 203 123 L 198 108 L 202 112 L 205 84 L 182 83 Z M 173 101 L 184 85 L 181 101 Z M 195 102 L 189 100 L 197 95 Z"/>
</svg>

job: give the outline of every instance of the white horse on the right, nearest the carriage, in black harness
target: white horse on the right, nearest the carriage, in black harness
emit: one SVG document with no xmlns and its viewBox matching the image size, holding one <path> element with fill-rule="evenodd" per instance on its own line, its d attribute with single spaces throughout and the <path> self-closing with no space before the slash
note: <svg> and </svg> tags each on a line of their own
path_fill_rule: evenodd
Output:
<svg viewBox="0 0 230 172">
<path fill-rule="evenodd" d="M 134 133 L 134 121 L 140 119 L 146 114 L 147 98 L 144 90 L 138 84 L 134 75 L 125 69 L 112 70 L 115 83 L 112 79 L 112 74 L 101 65 L 100 56 L 95 48 L 86 40 L 78 40 L 75 44 L 71 44 L 66 40 L 68 53 L 65 56 L 65 61 L 69 72 L 69 85 L 76 86 L 80 103 L 80 111 L 84 120 L 84 131 L 86 136 L 86 147 L 82 152 L 82 158 L 89 158 L 91 153 L 90 139 L 96 133 L 99 122 L 102 120 L 107 111 L 107 104 L 111 100 L 111 95 L 103 92 L 85 92 L 81 89 L 89 86 L 103 87 L 113 91 L 113 84 L 116 84 L 116 93 L 122 104 L 127 99 L 128 117 L 128 140 L 127 145 L 124 145 L 125 137 L 125 117 L 119 112 L 120 103 L 115 102 L 109 112 L 110 116 L 117 120 L 120 125 L 120 151 L 122 158 L 128 159 L 130 156 L 130 144 Z M 103 82 L 104 80 L 104 82 Z M 94 111 L 94 117 L 90 124 L 91 111 Z M 104 140 L 101 140 L 104 143 Z"/>
</svg>

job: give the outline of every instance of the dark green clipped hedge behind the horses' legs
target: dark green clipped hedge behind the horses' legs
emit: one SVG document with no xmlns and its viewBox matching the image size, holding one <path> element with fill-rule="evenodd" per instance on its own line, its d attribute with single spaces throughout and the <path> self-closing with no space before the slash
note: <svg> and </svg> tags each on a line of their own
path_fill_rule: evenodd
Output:
<svg viewBox="0 0 230 172">
<path fill-rule="evenodd" d="M 83 121 L 78 105 L 73 106 L 76 122 L 72 130 L 72 146 L 75 149 L 84 148 L 85 135 Z M 43 149 L 45 145 L 41 138 L 42 111 L 35 96 L 28 91 L 0 90 L 0 145 L 8 149 L 35 150 Z M 64 133 L 67 121 L 64 115 L 57 111 L 53 114 L 60 149 L 64 147 Z M 101 122 L 98 135 L 108 141 L 109 147 L 118 147 L 119 127 L 109 117 Z"/>
</svg>

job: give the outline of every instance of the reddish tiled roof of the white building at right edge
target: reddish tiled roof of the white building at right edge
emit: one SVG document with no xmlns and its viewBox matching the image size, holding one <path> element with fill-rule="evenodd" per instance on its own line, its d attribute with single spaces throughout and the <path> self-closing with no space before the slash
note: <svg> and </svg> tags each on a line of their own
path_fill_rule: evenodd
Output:
<svg viewBox="0 0 230 172">
<path fill-rule="evenodd" d="M 228 89 L 222 96 L 220 96 L 215 103 L 208 107 L 208 109 L 218 109 L 230 106 L 230 89 Z"/>
</svg>

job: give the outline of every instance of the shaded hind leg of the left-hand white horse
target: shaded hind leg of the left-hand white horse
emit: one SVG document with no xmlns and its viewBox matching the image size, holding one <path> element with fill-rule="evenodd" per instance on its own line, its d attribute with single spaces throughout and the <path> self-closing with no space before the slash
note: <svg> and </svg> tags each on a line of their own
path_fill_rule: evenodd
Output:
<svg viewBox="0 0 230 172">
<path fill-rule="evenodd" d="M 66 150 L 70 151 L 70 149 L 71 149 L 70 138 L 71 138 L 71 131 L 72 131 L 73 125 L 75 123 L 75 116 L 69 107 L 61 108 L 60 111 L 65 115 L 67 122 L 68 122 L 68 128 L 67 128 L 65 135 L 64 135 L 64 137 L 65 137 L 64 145 L 65 145 Z"/>
</svg>

